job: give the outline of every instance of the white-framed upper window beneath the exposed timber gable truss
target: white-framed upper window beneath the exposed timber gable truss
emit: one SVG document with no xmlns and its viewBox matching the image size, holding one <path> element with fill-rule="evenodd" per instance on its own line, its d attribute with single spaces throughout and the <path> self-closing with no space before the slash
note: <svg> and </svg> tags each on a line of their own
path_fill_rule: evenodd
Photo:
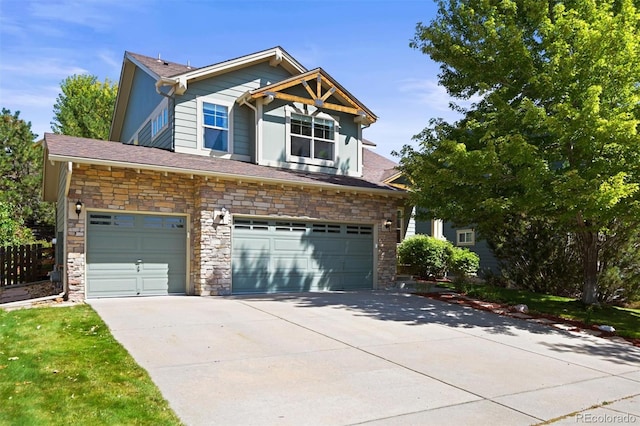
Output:
<svg viewBox="0 0 640 426">
<path fill-rule="evenodd" d="M 291 114 L 291 155 L 300 159 L 335 160 L 336 122 L 328 118 Z"/>
</svg>

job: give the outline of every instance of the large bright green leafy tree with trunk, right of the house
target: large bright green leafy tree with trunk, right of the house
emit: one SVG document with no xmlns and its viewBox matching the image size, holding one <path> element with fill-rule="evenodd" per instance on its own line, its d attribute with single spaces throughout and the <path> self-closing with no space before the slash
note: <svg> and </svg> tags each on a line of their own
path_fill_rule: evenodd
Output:
<svg viewBox="0 0 640 426">
<path fill-rule="evenodd" d="M 433 120 L 401 168 L 435 216 L 498 232 L 544 217 L 575 236 L 595 303 L 601 249 L 640 215 L 640 14 L 632 0 L 441 0 L 411 46 L 473 100 Z"/>
</svg>

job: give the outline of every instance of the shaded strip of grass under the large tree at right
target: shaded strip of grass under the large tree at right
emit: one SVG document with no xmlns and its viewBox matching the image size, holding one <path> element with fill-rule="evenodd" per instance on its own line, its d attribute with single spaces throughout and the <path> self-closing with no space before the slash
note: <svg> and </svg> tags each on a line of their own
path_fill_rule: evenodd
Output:
<svg viewBox="0 0 640 426">
<path fill-rule="evenodd" d="M 447 286 L 454 288 L 453 284 L 447 284 Z M 586 324 L 610 325 L 616 329 L 616 334 L 619 336 L 640 339 L 640 309 L 620 308 L 610 305 L 587 307 L 579 300 L 567 297 L 485 284 L 466 285 L 465 291 L 467 296 L 487 302 L 508 305 L 525 304 L 532 313 L 553 315 L 581 321 Z"/>
</svg>

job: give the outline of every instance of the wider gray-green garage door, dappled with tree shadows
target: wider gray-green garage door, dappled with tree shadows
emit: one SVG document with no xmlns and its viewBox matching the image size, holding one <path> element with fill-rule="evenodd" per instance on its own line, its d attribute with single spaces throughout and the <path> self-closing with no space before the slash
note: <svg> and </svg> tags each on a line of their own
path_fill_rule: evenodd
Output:
<svg viewBox="0 0 640 426">
<path fill-rule="evenodd" d="M 373 288 L 373 227 L 236 218 L 233 293 Z"/>
</svg>

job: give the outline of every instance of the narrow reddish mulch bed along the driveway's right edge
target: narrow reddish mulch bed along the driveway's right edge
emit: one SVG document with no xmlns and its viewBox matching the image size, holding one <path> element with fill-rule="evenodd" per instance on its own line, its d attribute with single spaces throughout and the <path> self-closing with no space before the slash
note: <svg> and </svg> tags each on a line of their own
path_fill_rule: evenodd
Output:
<svg viewBox="0 0 640 426">
<path fill-rule="evenodd" d="M 617 336 L 614 333 L 602 331 L 596 324 L 585 324 L 582 321 L 571 320 L 567 318 L 561 318 L 549 314 L 541 314 L 537 312 L 518 312 L 515 306 L 510 306 L 496 302 L 485 302 L 482 300 L 473 299 L 465 296 L 464 294 L 458 294 L 454 292 L 416 292 L 418 296 L 428 297 L 430 299 L 440 300 L 442 302 L 454 303 L 458 305 L 469 306 L 481 311 L 493 312 L 494 314 L 509 316 L 512 318 L 524 319 L 527 321 L 533 321 L 538 323 L 548 324 L 549 326 L 561 328 L 566 331 L 585 332 L 597 337 L 602 337 L 609 340 L 623 339 L 629 342 L 633 346 L 640 347 L 640 339 L 631 339 Z"/>
</svg>

